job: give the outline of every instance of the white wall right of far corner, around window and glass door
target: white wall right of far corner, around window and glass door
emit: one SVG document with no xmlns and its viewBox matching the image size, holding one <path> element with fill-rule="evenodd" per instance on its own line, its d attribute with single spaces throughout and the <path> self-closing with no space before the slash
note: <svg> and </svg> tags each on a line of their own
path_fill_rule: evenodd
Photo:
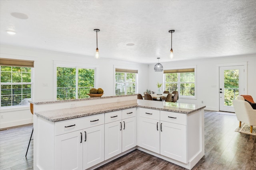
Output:
<svg viewBox="0 0 256 170">
<path fill-rule="evenodd" d="M 179 97 L 178 102 L 202 104 L 201 101 L 203 100 L 203 105 L 206 106 L 206 109 L 219 111 L 219 66 L 229 66 L 232 63 L 247 63 L 247 94 L 251 95 L 254 100 L 256 100 L 256 55 L 173 61 L 161 64 L 164 68 L 196 66 L 197 99 L 182 99 Z M 163 83 L 163 72 L 154 72 L 154 65 L 155 64 L 150 64 L 149 66 L 148 81 L 153 83 L 150 83 L 148 88 L 156 91 L 156 83 L 158 81 Z M 215 85 L 216 87 L 212 87 Z M 161 90 L 163 90 L 163 87 Z"/>
</svg>

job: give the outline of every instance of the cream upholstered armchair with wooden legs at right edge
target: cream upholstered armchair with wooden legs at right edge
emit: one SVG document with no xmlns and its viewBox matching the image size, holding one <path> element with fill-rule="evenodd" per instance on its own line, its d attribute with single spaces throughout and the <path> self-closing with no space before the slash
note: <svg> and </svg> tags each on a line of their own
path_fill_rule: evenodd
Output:
<svg viewBox="0 0 256 170">
<path fill-rule="evenodd" d="M 237 100 L 233 100 L 233 106 L 235 109 L 236 117 L 241 127 L 241 122 L 250 125 L 250 133 L 252 133 L 252 126 L 256 126 L 256 110 L 252 106 L 244 101 L 242 96 L 238 96 Z"/>
</svg>

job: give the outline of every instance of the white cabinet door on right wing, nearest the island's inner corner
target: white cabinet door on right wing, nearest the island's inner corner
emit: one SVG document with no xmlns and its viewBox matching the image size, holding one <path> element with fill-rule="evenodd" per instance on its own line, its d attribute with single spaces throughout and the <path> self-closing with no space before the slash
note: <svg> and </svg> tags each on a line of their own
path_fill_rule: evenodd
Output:
<svg viewBox="0 0 256 170">
<path fill-rule="evenodd" d="M 138 146 L 160 153 L 160 121 L 146 117 L 138 118 Z"/>
</svg>

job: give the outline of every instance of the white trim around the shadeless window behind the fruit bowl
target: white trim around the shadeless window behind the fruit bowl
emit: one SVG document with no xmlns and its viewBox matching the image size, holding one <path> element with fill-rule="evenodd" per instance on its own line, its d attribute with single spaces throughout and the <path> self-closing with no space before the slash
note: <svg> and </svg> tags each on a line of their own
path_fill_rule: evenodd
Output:
<svg viewBox="0 0 256 170">
<path fill-rule="evenodd" d="M 67 62 L 67 61 L 57 61 L 54 60 L 54 71 L 53 71 L 53 94 L 54 99 L 57 100 L 57 67 L 68 67 L 68 68 L 87 68 L 87 69 L 94 69 L 94 87 L 97 87 L 98 81 L 98 64 L 90 64 L 90 63 L 75 63 L 75 62 Z M 76 74 L 76 78 L 78 78 L 78 74 Z M 77 85 L 77 84 L 76 84 Z M 77 90 L 77 89 L 76 89 Z M 77 93 L 76 93 L 77 95 Z M 77 98 L 77 96 L 76 96 Z"/>
</svg>

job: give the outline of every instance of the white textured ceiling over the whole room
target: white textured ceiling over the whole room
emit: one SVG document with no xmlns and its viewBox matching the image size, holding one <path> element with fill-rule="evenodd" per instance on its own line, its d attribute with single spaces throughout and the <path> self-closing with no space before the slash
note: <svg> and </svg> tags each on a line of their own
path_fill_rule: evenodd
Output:
<svg viewBox="0 0 256 170">
<path fill-rule="evenodd" d="M 26 14 L 28 19 L 11 13 Z M 255 0 L 1 0 L 0 43 L 138 63 L 256 54 Z M 9 35 L 6 30 L 16 31 Z M 134 46 L 127 46 L 134 43 Z"/>
</svg>

